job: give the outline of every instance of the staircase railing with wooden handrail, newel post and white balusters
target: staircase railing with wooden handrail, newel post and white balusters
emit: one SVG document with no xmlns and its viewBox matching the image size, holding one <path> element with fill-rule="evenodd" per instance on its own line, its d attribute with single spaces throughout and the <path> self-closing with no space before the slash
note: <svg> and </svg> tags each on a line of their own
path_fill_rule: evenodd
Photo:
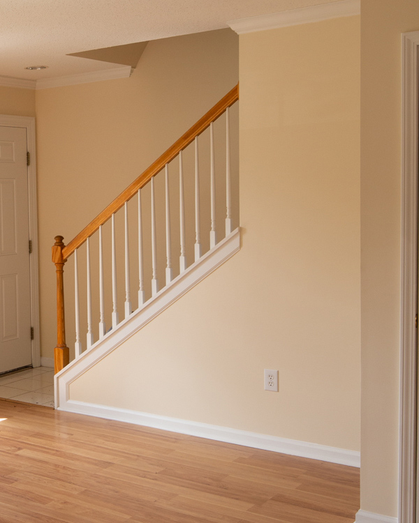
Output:
<svg viewBox="0 0 419 523">
<path fill-rule="evenodd" d="M 75 357 L 82 354 L 82 342 L 80 341 L 80 303 L 79 303 L 79 273 L 78 273 L 78 249 L 86 244 L 86 267 L 87 267 L 87 349 L 94 343 L 92 333 L 92 299 L 91 299 L 91 260 L 90 260 L 90 238 L 98 232 L 99 248 L 99 339 L 103 338 L 106 333 L 105 312 L 104 312 L 104 271 L 103 271 L 103 231 L 102 227 L 108 220 L 111 220 L 112 235 L 112 328 L 119 324 L 117 310 L 117 248 L 115 238 L 115 213 L 124 207 L 124 268 L 125 268 L 125 317 L 128 317 L 133 311 L 131 306 L 130 294 L 130 252 L 128 240 L 128 201 L 135 195 L 138 195 L 138 308 L 145 303 L 144 289 L 144 264 L 143 264 L 143 245 L 142 245 L 142 198 L 141 190 L 147 183 L 151 183 L 151 243 L 152 243 L 152 296 L 159 291 L 159 282 L 157 278 L 157 242 L 156 242 L 156 202 L 154 177 L 163 169 L 165 172 L 165 193 L 166 193 L 166 285 L 172 281 L 172 257 L 170 241 L 170 197 L 169 197 L 169 163 L 177 156 L 179 157 L 179 240 L 180 240 L 180 257 L 179 272 L 186 270 L 186 234 L 185 234 L 185 196 L 184 196 L 184 161 L 182 151 L 194 142 L 194 218 L 195 218 L 195 243 L 194 257 L 198 261 L 202 256 L 202 243 L 200 239 L 200 173 L 198 159 L 198 136 L 210 128 L 210 249 L 214 248 L 217 243 L 216 237 L 216 160 L 214 145 L 214 122 L 226 113 L 226 236 L 232 232 L 232 182 L 230 167 L 230 114 L 229 108 L 239 99 L 239 87 L 235 86 L 229 93 L 219 100 L 210 111 L 198 120 L 187 132 L 180 137 L 169 149 L 163 153 L 160 158 L 152 163 L 145 171 L 138 176 L 131 185 L 128 186 L 115 200 L 109 204 L 87 227 L 71 240 L 67 245 L 63 243 L 62 236 L 55 237 L 55 243 L 52 247 L 52 261 L 56 266 L 57 272 L 57 347 L 54 349 L 54 370 L 59 372 L 70 360 L 69 349 L 66 345 L 66 328 L 64 314 L 64 264 L 74 255 L 75 268 Z"/>
</svg>

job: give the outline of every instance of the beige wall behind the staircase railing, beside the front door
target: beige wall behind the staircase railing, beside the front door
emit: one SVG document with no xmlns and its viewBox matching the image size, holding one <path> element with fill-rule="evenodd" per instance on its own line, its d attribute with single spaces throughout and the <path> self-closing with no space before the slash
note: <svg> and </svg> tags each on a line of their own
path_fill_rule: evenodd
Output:
<svg viewBox="0 0 419 523">
<path fill-rule="evenodd" d="M 127 79 L 36 91 L 42 356 L 52 357 L 56 344 L 55 275 L 50 257 L 54 236 L 61 234 L 68 243 L 237 80 L 238 36 L 224 29 L 150 42 Z M 175 189 L 176 183 L 172 185 Z M 164 190 L 163 185 L 157 190 Z M 149 206 L 147 192 L 145 200 Z M 164 212 L 164 206 L 159 211 Z M 131 226 L 134 231 L 133 213 Z M 123 233 L 118 238 L 123 241 Z M 118 250 L 123 254 L 122 244 Z M 135 249 L 131 251 L 134 256 Z M 73 278 L 72 263 L 66 265 L 67 283 Z M 132 265 L 138 267 L 135 259 Z M 123 261 L 119 268 L 123 307 Z M 83 268 L 80 273 L 85 274 Z M 132 284 L 135 301 L 138 278 L 133 276 Z M 66 303 L 68 311 L 73 311 L 70 286 Z M 120 314 L 123 318 L 123 308 Z M 96 313 L 94 321 L 96 328 Z M 67 326 L 73 350 L 70 314 Z"/>
</svg>

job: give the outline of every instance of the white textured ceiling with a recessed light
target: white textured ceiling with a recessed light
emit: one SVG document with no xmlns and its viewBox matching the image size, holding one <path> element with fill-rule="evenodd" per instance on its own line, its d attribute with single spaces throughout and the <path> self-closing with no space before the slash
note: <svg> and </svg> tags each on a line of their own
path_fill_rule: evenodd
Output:
<svg viewBox="0 0 419 523">
<path fill-rule="evenodd" d="M 336 0 L 0 0 L 0 75 L 43 79 L 116 68 L 66 55 L 330 1 Z M 24 69 L 38 65 L 48 68 Z"/>
</svg>

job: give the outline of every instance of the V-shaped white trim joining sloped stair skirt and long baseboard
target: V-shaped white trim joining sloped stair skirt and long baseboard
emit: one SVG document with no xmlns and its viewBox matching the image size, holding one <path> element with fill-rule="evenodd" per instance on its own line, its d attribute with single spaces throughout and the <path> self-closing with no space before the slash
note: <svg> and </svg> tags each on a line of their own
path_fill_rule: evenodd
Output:
<svg viewBox="0 0 419 523">
<path fill-rule="evenodd" d="M 156 414 L 71 400 L 70 385 L 75 379 L 78 379 L 89 368 L 96 365 L 102 358 L 105 358 L 111 351 L 115 350 L 134 333 L 148 324 L 149 321 L 152 321 L 157 314 L 160 314 L 160 312 L 186 294 L 189 289 L 206 278 L 207 275 L 221 266 L 224 261 L 232 257 L 238 250 L 240 250 L 240 228 L 235 229 L 212 250 L 187 268 L 184 273 L 177 276 L 175 280 L 159 291 L 154 298 L 147 301 L 140 310 L 133 312 L 130 317 L 122 321 L 115 331 L 110 331 L 102 340 L 92 345 L 89 351 L 85 351 L 80 358 L 73 360 L 63 370 L 55 374 L 55 407 L 61 411 L 74 412 L 76 414 L 119 420 L 216 441 L 226 441 L 227 443 L 252 448 L 309 457 L 313 460 L 360 467 L 360 453 L 354 450 L 344 450 L 267 434 L 208 425 L 207 423 L 168 418 Z"/>
</svg>

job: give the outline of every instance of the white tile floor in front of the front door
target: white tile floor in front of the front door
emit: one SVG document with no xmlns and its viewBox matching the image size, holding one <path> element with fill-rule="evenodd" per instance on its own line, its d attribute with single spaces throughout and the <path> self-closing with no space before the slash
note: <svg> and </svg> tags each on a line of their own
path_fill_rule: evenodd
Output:
<svg viewBox="0 0 419 523">
<path fill-rule="evenodd" d="M 54 369 L 36 367 L 0 376 L 0 397 L 54 407 Z"/>
</svg>

